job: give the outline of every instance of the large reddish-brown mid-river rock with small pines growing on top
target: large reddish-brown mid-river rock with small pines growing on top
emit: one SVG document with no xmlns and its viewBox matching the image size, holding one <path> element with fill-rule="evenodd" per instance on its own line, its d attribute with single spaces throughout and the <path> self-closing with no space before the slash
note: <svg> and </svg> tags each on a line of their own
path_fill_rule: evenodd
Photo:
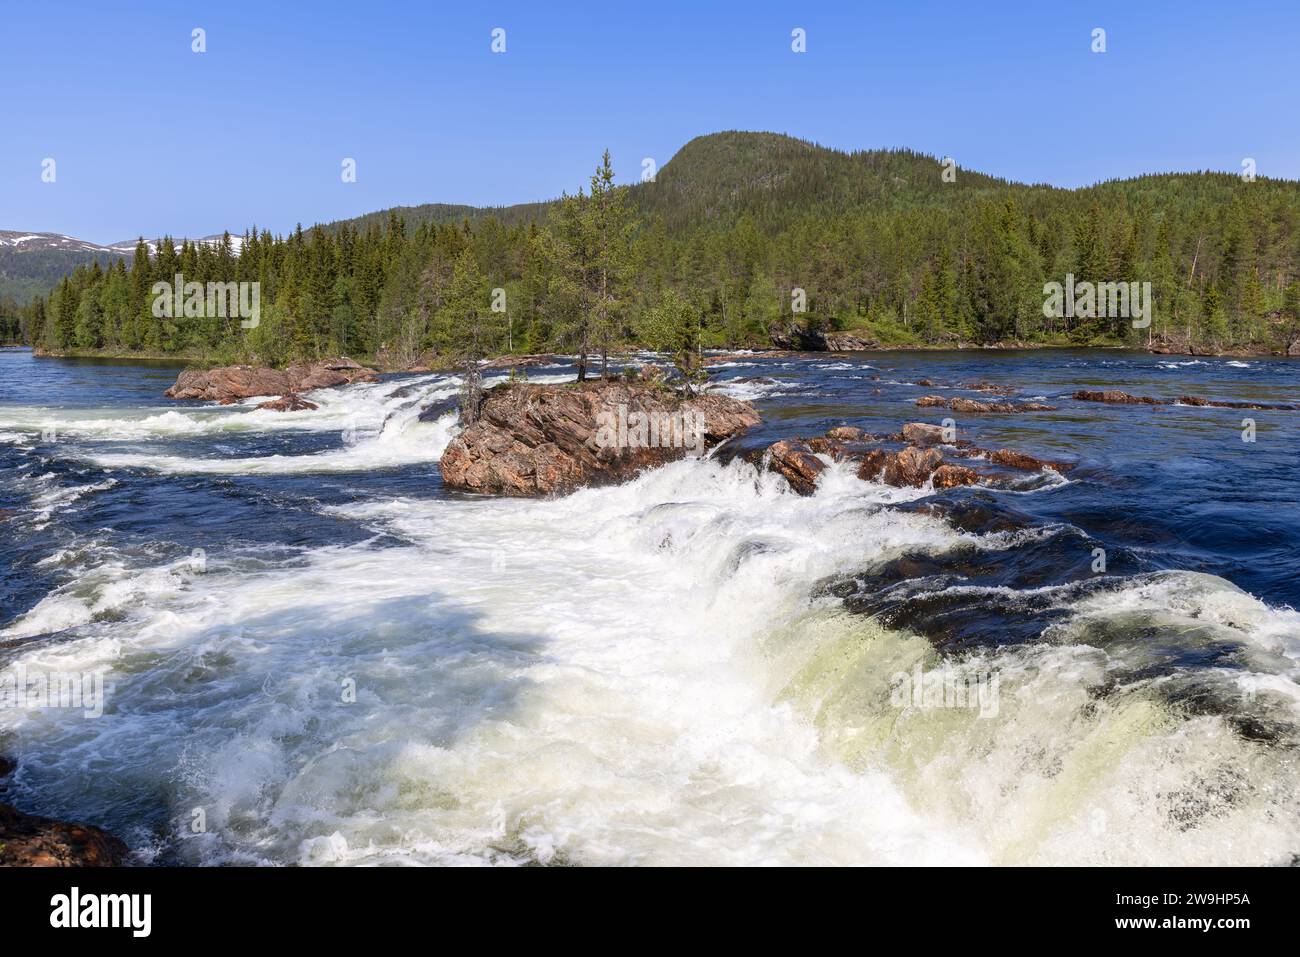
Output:
<svg viewBox="0 0 1300 957">
<path fill-rule="evenodd" d="M 493 495 L 564 494 L 627 481 L 759 421 L 748 402 L 716 393 L 685 399 L 618 380 L 504 384 L 484 394 L 478 421 L 447 446 L 442 478 Z"/>
</svg>

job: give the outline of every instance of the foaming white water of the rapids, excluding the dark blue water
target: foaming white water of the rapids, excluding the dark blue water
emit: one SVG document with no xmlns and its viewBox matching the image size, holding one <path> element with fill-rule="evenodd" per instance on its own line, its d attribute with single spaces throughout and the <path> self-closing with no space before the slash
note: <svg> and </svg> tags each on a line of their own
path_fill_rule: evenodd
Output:
<svg viewBox="0 0 1300 957">
<path fill-rule="evenodd" d="M 421 402 L 455 387 L 419 385 Z M 88 456 L 166 475 L 437 462 L 451 416 L 420 423 L 391 391 L 52 425 L 134 442 L 355 430 L 306 455 Z M 108 713 L 0 711 L 0 732 L 58 771 L 84 818 L 120 814 L 124 793 L 165 807 L 122 836 L 191 863 L 1286 863 L 1279 849 L 1300 849 L 1294 742 L 1175 714 L 1154 685 L 1088 693 L 1141 653 L 1087 644 L 1088 623 L 1145 614 L 1257 649 L 1268 667 L 1225 680 L 1300 713 L 1300 618 L 1222 579 L 1147 576 L 1049 640 L 961 662 L 998 672 L 996 715 L 893 706 L 890 676 L 939 657 L 814 597 L 818 583 L 904 551 L 1018 544 L 881 507 L 923 494 L 833 468 L 801 498 L 742 462 L 690 460 L 555 501 L 322 506 L 373 538 L 290 563 L 212 557 L 199 572 L 105 550 L 0 641 L 61 632 L 10 667 L 107 668 Z"/>
</svg>

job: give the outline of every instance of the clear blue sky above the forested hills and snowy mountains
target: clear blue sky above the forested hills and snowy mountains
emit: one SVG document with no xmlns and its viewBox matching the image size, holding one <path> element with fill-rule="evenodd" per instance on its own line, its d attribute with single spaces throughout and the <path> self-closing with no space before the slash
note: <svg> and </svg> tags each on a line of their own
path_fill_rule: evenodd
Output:
<svg viewBox="0 0 1300 957">
<path fill-rule="evenodd" d="M 546 199 L 604 147 L 632 181 L 727 129 L 1060 186 L 1247 156 L 1300 178 L 1291 1 L 294 7 L 6 3 L 0 229 L 110 242 Z"/>
</svg>

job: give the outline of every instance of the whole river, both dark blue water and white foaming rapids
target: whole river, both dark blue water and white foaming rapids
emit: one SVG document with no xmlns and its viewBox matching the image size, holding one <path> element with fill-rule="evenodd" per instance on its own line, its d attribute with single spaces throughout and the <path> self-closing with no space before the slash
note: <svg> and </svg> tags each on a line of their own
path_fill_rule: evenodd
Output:
<svg viewBox="0 0 1300 957">
<path fill-rule="evenodd" d="M 455 424 L 419 412 L 454 378 L 280 413 L 169 402 L 177 371 L 0 352 L 0 670 L 108 688 L 0 709 L 0 800 L 140 861 L 1300 854 L 1300 412 L 1069 399 L 1295 402 L 1295 361 L 740 359 L 750 446 L 937 423 L 915 398 L 978 394 L 919 380 L 983 378 L 1060 410 L 963 437 L 1078 465 L 803 498 L 685 460 L 554 501 L 443 488 Z"/>
</svg>

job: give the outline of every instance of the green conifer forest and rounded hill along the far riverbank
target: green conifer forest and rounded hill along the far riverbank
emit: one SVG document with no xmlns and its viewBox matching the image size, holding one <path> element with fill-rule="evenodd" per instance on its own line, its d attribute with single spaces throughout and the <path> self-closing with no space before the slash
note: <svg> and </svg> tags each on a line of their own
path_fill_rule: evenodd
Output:
<svg viewBox="0 0 1300 957">
<path fill-rule="evenodd" d="M 621 172 L 640 165 L 628 157 Z M 248 235 L 238 254 L 164 242 L 130 268 L 77 270 L 23 309 L 23 328 L 53 350 L 268 361 L 601 351 L 647 341 L 666 316 L 679 345 L 766 345 L 800 325 L 881 345 L 1300 351 L 1297 226 L 1292 181 L 1176 173 L 1063 190 L 906 150 L 720 133 L 689 142 L 653 182 L 615 187 L 602 164 L 564 200 L 381 211 Z M 259 325 L 153 317 L 151 283 L 178 269 L 260 282 Z M 1149 282 L 1150 325 L 1045 316 L 1044 283 L 1067 274 Z"/>
</svg>

